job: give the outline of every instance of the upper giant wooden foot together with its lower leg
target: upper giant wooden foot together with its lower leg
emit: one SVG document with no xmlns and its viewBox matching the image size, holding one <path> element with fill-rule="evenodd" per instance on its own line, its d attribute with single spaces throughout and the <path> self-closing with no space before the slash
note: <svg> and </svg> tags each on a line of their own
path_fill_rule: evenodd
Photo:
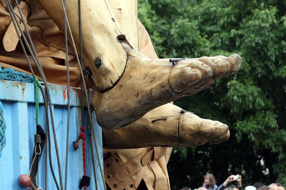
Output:
<svg viewBox="0 0 286 190">
<path fill-rule="evenodd" d="M 38 1 L 64 31 L 61 1 Z M 175 65 L 169 59 L 148 59 L 130 46 L 107 1 L 81 1 L 81 7 L 83 62 L 92 72 L 92 104 L 102 128 L 126 126 L 148 111 L 197 93 L 212 85 L 217 77 L 231 75 L 240 68 L 237 54 L 188 59 L 174 62 Z M 77 11 L 78 1 L 66 3 L 78 47 Z"/>
</svg>

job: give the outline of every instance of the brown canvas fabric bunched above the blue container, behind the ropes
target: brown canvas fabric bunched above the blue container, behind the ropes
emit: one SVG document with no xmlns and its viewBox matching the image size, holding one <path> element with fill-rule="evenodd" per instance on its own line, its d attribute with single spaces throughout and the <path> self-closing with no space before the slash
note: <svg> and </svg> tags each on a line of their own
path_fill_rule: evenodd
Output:
<svg viewBox="0 0 286 190">
<path fill-rule="evenodd" d="M 11 4 L 14 6 L 14 1 L 11 1 Z M 31 6 L 31 16 L 28 18 L 27 27 L 47 81 L 67 85 L 64 36 L 36 0 L 30 0 L 29 5 Z M 29 11 L 26 3 L 21 1 L 20 7 L 23 8 L 23 16 L 27 18 Z M 17 13 L 17 7 L 14 10 Z M 12 68 L 16 71 L 25 71 L 31 75 L 4 0 L 0 0 L 0 40 L 2 42 L 0 46 L 1 67 L 10 68 L 13 66 Z M 71 45 L 69 45 L 69 53 L 71 54 L 69 56 L 71 86 L 78 87 L 80 85 L 80 72 L 76 58 L 72 55 L 74 51 Z M 32 58 L 29 58 L 35 74 L 39 76 Z"/>
</svg>

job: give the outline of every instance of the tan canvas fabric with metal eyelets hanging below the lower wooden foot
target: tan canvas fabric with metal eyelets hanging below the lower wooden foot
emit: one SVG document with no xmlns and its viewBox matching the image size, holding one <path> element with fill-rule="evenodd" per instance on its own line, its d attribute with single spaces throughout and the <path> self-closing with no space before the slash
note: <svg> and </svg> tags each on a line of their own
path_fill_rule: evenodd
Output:
<svg viewBox="0 0 286 190">
<path fill-rule="evenodd" d="M 104 176 L 112 190 L 170 189 L 167 162 L 172 148 L 104 149 Z M 118 161 L 116 162 L 116 159 Z M 140 184 L 141 183 L 141 184 Z M 130 184 L 133 184 L 130 186 Z"/>
</svg>

